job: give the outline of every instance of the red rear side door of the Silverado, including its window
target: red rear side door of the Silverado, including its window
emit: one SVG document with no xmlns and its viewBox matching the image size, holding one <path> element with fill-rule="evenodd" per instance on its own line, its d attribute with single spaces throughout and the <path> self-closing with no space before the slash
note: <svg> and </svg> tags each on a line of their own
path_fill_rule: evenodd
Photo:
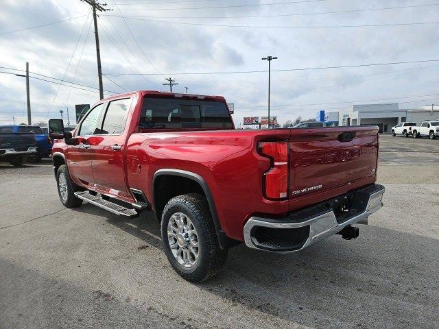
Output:
<svg viewBox="0 0 439 329">
<path fill-rule="evenodd" d="M 125 175 L 126 121 L 131 98 L 108 103 L 103 116 L 102 130 L 91 147 L 91 162 L 95 184 L 106 193 L 129 197 Z"/>
</svg>

